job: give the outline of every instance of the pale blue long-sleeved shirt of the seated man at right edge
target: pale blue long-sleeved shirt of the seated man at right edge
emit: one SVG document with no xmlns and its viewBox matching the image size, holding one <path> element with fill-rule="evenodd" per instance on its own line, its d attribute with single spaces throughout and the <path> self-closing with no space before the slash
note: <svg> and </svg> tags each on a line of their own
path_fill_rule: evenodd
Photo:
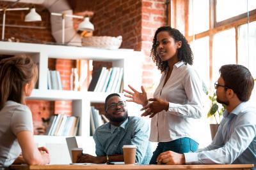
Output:
<svg viewBox="0 0 256 170">
<path fill-rule="evenodd" d="M 256 108 L 239 104 L 223 120 L 211 145 L 198 153 L 184 153 L 186 164 L 256 165 Z"/>
</svg>

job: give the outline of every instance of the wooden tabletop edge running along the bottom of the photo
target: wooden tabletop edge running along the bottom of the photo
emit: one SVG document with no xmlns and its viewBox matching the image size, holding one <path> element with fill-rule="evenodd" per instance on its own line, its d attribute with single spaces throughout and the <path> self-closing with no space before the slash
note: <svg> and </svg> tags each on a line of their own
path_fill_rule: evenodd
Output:
<svg viewBox="0 0 256 170">
<path fill-rule="evenodd" d="M 250 170 L 253 164 L 232 164 L 232 165 L 177 165 L 177 166 L 167 166 L 167 165 L 46 165 L 46 166 L 27 166 L 27 165 L 17 165 L 11 166 L 11 169 L 15 170 L 104 170 L 104 169 L 115 169 L 115 170 L 124 170 L 124 169 L 172 169 L 172 170 L 188 170 L 188 169 L 202 169 L 202 170 Z"/>
</svg>

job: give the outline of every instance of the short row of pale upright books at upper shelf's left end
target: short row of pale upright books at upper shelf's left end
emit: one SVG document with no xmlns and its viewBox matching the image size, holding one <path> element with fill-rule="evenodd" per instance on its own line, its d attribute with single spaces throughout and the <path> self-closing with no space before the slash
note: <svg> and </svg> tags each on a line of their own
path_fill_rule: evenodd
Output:
<svg viewBox="0 0 256 170">
<path fill-rule="evenodd" d="M 50 90 L 62 90 L 60 71 L 47 70 L 47 86 Z"/>
</svg>

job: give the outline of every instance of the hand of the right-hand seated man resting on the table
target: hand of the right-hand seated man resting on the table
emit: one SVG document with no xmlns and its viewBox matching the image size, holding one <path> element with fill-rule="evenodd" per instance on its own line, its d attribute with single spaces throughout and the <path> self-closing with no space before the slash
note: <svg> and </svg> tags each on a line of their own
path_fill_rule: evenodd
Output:
<svg viewBox="0 0 256 170">
<path fill-rule="evenodd" d="M 185 157 L 184 154 L 166 151 L 161 153 L 157 157 L 158 164 L 168 164 L 168 165 L 182 165 L 185 164 Z"/>
</svg>

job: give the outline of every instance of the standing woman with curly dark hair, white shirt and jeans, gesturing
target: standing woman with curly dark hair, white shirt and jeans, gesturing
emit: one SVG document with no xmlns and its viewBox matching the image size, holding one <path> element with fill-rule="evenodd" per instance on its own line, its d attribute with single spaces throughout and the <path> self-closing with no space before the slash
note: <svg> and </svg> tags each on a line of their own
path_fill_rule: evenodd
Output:
<svg viewBox="0 0 256 170">
<path fill-rule="evenodd" d="M 150 164 L 157 164 L 157 156 L 172 150 L 178 153 L 195 152 L 193 127 L 195 120 L 202 117 L 202 80 L 189 65 L 193 64 L 193 53 L 186 38 L 172 27 L 159 27 L 154 35 L 150 57 L 162 76 L 154 92 L 147 99 L 131 85 L 132 91 L 124 90 L 127 101 L 141 104 L 143 117 L 151 120 L 150 141 L 159 142 Z M 189 65 L 188 65 L 189 64 Z"/>
</svg>

